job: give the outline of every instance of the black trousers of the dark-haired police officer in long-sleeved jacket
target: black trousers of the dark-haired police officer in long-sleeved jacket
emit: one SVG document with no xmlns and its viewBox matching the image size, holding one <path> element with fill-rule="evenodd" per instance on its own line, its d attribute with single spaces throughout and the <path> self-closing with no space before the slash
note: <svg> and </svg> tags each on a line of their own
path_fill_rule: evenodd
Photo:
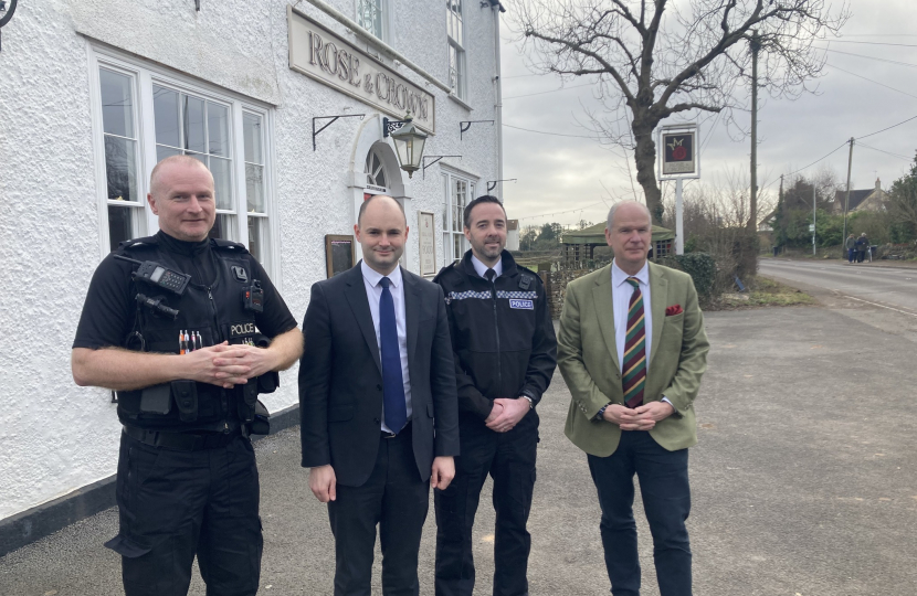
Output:
<svg viewBox="0 0 917 596">
<path fill-rule="evenodd" d="M 472 529 L 487 475 L 494 479 L 496 510 L 494 594 L 528 594 L 526 530 L 535 488 L 538 414 L 533 409 L 508 433 L 495 433 L 479 419 L 460 422 L 462 455 L 455 479 L 434 491 L 436 508 L 436 595 L 471 596 L 474 592 Z"/>
</svg>

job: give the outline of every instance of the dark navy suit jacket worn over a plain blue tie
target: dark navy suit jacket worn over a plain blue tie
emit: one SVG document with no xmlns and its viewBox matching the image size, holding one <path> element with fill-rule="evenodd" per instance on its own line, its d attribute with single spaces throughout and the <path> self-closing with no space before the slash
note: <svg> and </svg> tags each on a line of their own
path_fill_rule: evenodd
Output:
<svg viewBox="0 0 917 596">
<path fill-rule="evenodd" d="M 434 457 L 458 455 L 455 363 L 442 288 L 404 268 L 401 276 L 414 459 L 426 481 Z M 303 333 L 303 466 L 330 464 L 339 483 L 362 486 L 379 450 L 382 365 L 359 263 L 313 285 Z"/>
</svg>

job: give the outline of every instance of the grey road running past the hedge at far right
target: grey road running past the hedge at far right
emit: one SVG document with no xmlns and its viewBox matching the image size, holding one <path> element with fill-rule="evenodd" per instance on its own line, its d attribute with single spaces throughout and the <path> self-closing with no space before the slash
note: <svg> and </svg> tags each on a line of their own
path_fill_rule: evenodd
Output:
<svg viewBox="0 0 917 596">
<path fill-rule="evenodd" d="M 760 273 L 801 285 L 805 290 L 821 288 L 917 316 L 917 268 L 766 258 L 760 260 Z"/>
</svg>

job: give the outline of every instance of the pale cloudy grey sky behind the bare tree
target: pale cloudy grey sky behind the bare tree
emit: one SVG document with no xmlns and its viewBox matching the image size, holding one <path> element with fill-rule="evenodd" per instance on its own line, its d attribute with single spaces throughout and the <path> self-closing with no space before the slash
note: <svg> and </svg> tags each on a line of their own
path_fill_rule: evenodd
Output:
<svg viewBox="0 0 917 596">
<path fill-rule="evenodd" d="M 908 26 L 915 22 L 913 3 L 850 0 L 852 15 L 841 30 L 842 36 L 830 45 L 819 44 L 830 51 L 824 54 L 828 65 L 823 76 L 814 85 L 818 93 L 795 100 L 759 93 L 758 183 L 762 193 L 776 198 L 781 173 L 820 160 L 851 137 L 865 137 L 917 116 L 917 31 Z M 505 4 L 513 10 L 512 2 Z M 589 138 L 557 136 L 588 136 L 582 128 L 588 123 L 584 108 L 601 105 L 586 79 L 561 84 L 556 75 L 533 75 L 509 31 L 508 18 L 505 14 L 502 24 L 500 60 L 504 179 L 517 179 L 504 183 L 509 217 L 519 219 L 521 225 L 601 222 L 612 202 L 642 200 L 631 151 Z M 557 91 L 561 87 L 566 88 Z M 705 117 L 702 115 L 702 120 Z M 744 126 L 750 125 L 750 113 L 736 113 L 735 117 Z M 730 138 L 726 127 L 714 126 L 714 120 L 708 119 L 699 130 L 702 181 L 725 185 L 730 172 L 748 172 L 750 139 L 735 139 L 735 131 Z M 915 150 L 917 119 L 856 141 L 851 188 L 873 188 L 878 178 L 887 190 L 909 170 Z M 847 157 L 844 145 L 800 173 L 831 168 L 845 181 Z"/>
</svg>

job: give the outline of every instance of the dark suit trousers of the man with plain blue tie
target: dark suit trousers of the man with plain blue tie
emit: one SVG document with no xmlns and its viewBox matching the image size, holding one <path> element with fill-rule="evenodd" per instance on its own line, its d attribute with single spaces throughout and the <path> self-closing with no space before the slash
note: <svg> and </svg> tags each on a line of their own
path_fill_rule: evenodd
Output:
<svg viewBox="0 0 917 596">
<path fill-rule="evenodd" d="M 418 553 L 430 507 L 430 485 L 420 478 L 410 428 L 394 438 L 380 438 L 369 480 L 360 487 L 338 485 L 337 499 L 328 502 L 335 535 L 335 596 L 370 596 L 377 524 L 382 594 L 420 593 Z"/>
</svg>

